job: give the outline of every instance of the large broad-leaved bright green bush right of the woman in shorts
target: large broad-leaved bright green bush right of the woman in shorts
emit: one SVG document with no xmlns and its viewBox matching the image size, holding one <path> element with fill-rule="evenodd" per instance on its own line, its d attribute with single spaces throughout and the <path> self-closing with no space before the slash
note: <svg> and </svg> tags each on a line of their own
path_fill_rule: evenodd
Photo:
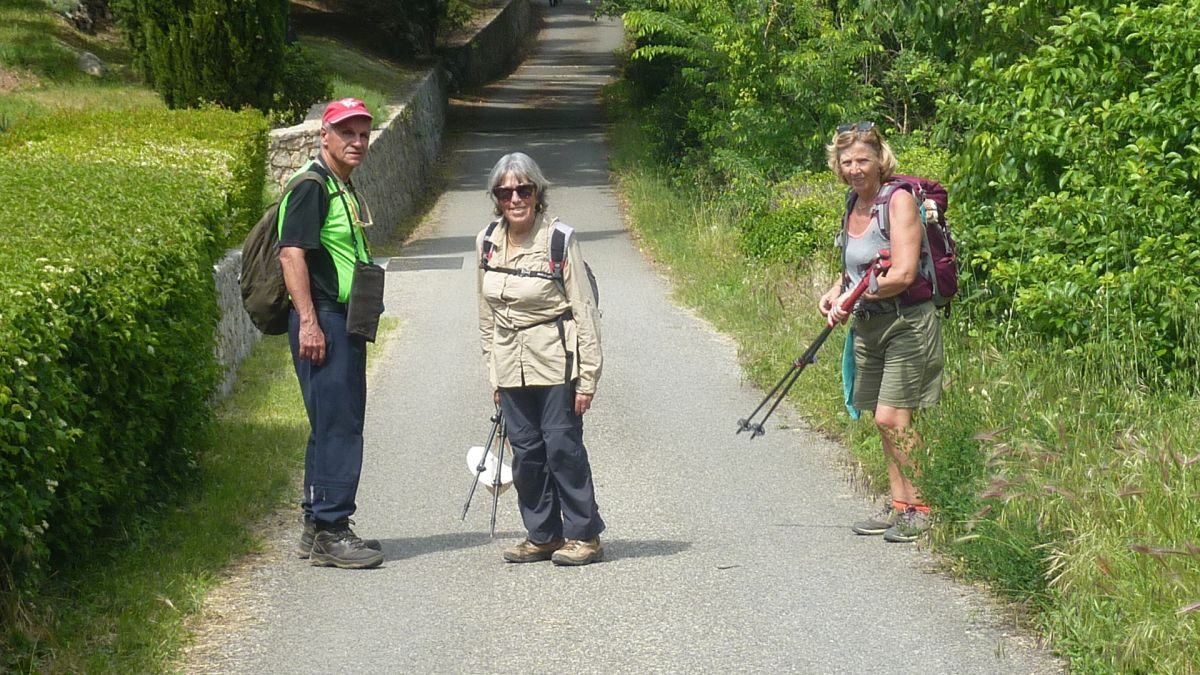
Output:
<svg viewBox="0 0 1200 675">
<path fill-rule="evenodd" d="M 1198 26 L 1195 2 L 1074 8 L 1034 53 L 976 61 L 946 124 L 968 130 L 956 220 L 990 316 L 1196 365 Z"/>
</svg>

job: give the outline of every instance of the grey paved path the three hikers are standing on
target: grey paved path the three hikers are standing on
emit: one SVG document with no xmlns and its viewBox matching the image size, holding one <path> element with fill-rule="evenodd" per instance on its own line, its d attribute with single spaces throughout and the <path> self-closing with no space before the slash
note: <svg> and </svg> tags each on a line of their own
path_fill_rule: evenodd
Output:
<svg viewBox="0 0 1200 675">
<path fill-rule="evenodd" d="M 913 546 L 850 534 L 869 508 L 844 450 L 803 431 L 733 435 L 760 392 L 736 350 L 668 300 L 608 184 L 599 86 L 619 29 L 576 0 L 538 53 L 452 110 L 449 186 L 394 261 L 400 336 L 374 374 L 358 530 L 376 571 L 287 557 L 253 572 L 256 622 L 220 635 L 203 670 L 239 673 L 1031 673 L 1052 661 L 1006 635 L 973 590 Z M 536 159 L 551 211 L 581 232 L 600 280 L 605 372 L 586 438 L 608 561 L 505 565 L 523 536 L 511 492 L 499 539 L 486 492 L 466 524 L 466 449 L 491 412 L 475 325 L 484 181 L 509 150 Z M 670 348 L 659 347 L 671 345 Z M 272 545 L 286 550 L 294 532 Z"/>
</svg>

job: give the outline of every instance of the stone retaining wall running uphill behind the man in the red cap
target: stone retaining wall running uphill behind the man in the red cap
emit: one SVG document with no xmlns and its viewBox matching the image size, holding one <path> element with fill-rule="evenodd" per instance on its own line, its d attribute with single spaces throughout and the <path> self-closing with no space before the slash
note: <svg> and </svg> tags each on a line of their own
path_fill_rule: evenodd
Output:
<svg viewBox="0 0 1200 675">
<path fill-rule="evenodd" d="M 466 74 L 456 77 L 479 84 L 508 72 L 521 58 L 520 50 L 532 30 L 529 0 L 508 0 L 473 37 L 456 47 L 461 53 L 475 54 L 464 58 L 467 65 L 462 67 L 466 70 L 456 72 Z M 480 41 L 481 46 L 476 47 L 475 41 Z M 484 54 L 488 58 L 482 58 Z M 374 225 L 368 228 L 367 237 L 373 243 L 388 239 L 396 226 L 414 214 L 430 183 L 430 173 L 442 151 L 450 89 L 448 80 L 440 65 L 426 71 L 403 100 L 389 107 L 388 120 L 371 133 L 371 150 L 362 166 L 355 169 L 354 184 L 362 190 L 371 208 Z M 463 80 L 458 82 L 461 85 Z M 288 177 L 317 153 L 319 130 L 319 120 L 310 120 L 272 131 L 268 180 L 278 186 L 287 183 Z M 217 358 L 224 370 L 218 392 L 221 396 L 233 389 L 238 366 L 262 336 L 241 307 L 240 270 L 239 250 L 229 251 L 212 268 L 221 305 L 216 340 Z"/>
</svg>

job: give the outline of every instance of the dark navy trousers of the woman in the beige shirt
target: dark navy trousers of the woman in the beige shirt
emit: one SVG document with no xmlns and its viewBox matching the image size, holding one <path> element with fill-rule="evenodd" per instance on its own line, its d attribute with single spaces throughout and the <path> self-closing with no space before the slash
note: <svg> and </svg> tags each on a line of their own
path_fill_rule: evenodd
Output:
<svg viewBox="0 0 1200 675">
<path fill-rule="evenodd" d="M 575 414 L 575 386 L 500 389 L 512 444 L 512 484 L 529 540 L 590 539 L 604 531 Z"/>
</svg>

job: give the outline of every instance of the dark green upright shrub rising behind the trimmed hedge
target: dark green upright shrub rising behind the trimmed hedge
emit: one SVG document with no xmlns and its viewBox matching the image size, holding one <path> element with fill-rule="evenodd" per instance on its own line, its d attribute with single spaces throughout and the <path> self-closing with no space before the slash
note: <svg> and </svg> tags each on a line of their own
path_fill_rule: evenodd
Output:
<svg viewBox="0 0 1200 675">
<path fill-rule="evenodd" d="M 284 0 L 118 0 L 138 65 L 173 108 L 271 109 L 281 90 Z"/>
</svg>

